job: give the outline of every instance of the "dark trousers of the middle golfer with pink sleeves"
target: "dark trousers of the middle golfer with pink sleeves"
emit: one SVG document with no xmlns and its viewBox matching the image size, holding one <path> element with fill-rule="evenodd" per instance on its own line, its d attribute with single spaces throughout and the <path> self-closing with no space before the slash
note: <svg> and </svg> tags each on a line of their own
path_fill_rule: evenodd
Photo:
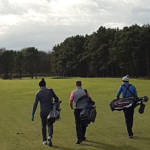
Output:
<svg viewBox="0 0 150 150">
<path fill-rule="evenodd" d="M 85 137 L 86 128 L 87 128 L 87 125 L 81 124 L 81 120 L 80 120 L 80 112 L 81 111 L 82 111 L 82 109 L 74 110 L 75 123 L 76 123 L 76 134 L 77 134 L 78 140 L 82 140 Z"/>
</svg>

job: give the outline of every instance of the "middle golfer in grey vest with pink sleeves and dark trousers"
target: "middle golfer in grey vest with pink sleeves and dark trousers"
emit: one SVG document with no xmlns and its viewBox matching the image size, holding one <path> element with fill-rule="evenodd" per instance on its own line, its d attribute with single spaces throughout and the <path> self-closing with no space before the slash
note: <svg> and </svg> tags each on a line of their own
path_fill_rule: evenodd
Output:
<svg viewBox="0 0 150 150">
<path fill-rule="evenodd" d="M 77 142 L 76 144 L 80 144 L 82 141 L 86 140 L 86 128 L 87 124 L 82 124 L 80 118 L 80 112 L 85 109 L 88 105 L 88 101 L 90 98 L 90 94 L 87 90 L 82 89 L 81 81 L 76 81 L 76 89 L 71 92 L 70 95 L 70 107 L 74 109 L 74 117 L 76 123 L 76 134 L 77 134 Z M 74 107 L 73 107 L 74 103 Z"/>
</svg>

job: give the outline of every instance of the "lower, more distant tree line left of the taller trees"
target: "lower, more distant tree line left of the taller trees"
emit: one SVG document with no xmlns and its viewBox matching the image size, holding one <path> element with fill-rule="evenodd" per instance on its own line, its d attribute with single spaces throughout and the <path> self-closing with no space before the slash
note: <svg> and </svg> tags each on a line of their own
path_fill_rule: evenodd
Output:
<svg viewBox="0 0 150 150">
<path fill-rule="evenodd" d="M 0 76 L 4 79 L 45 76 L 50 73 L 50 54 L 35 47 L 21 51 L 0 49 Z"/>
</svg>

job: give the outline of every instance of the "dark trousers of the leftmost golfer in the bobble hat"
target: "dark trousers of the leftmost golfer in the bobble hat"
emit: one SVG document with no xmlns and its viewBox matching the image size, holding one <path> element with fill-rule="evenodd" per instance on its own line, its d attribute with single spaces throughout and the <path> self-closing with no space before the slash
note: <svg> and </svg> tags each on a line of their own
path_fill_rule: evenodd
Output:
<svg viewBox="0 0 150 150">
<path fill-rule="evenodd" d="M 40 113 L 41 116 L 41 122 L 42 122 L 42 136 L 43 136 L 43 141 L 47 140 L 47 129 L 48 127 L 48 136 L 52 138 L 53 136 L 53 123 L 49 122 L 47 120 L 47 116 L 49 113 Z"/>
</svg>

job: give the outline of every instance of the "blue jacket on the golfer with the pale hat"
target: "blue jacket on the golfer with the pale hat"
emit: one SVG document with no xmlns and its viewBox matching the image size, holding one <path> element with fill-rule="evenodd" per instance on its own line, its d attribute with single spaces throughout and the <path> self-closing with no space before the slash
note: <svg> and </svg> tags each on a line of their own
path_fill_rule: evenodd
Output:
<svg viewBox="0 0 150 150">
<path fill-rule="evenodd" d="M 128 90 L 127 90 L 127 87 L 128 87 Z M 120 86 L 120 88 L 117 91 L 117 97 L 120 97 L 120 94 L 122 94 L 123 98 L 137 97 L 135 86 L 129 84 L 128 82 L 125 82 L 123 85 Z"/>
</svg>

